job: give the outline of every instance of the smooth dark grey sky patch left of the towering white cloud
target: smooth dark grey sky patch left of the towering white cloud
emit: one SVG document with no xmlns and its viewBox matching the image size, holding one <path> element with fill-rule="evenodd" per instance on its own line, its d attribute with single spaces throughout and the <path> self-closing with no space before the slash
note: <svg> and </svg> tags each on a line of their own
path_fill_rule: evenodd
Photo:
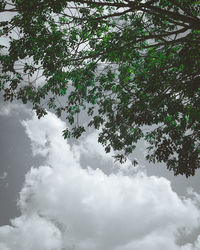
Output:
<svg viewBox="0 0 200 250">
<path fill-rule="evenodd" d="M 20 123 L 27 119 L 23 110 L 15 110 L 12 115 L 0 115 L 0 224 L 8 224 L 9 220 L 19 215 L 16 201 L 22 188 L 25 174 L 32 165 L 39 165 L 39 157 L 32 157 L 30 141 Z"/>
</svg>

